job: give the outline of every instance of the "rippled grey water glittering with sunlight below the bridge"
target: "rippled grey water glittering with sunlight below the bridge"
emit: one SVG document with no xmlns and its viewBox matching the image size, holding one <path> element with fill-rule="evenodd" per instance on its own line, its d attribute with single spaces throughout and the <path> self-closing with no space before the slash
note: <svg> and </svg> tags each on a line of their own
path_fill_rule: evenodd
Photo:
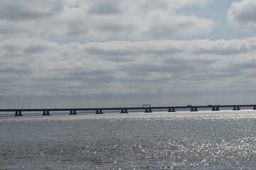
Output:
<svg viewBox="0 0 256 170">
<path fill-rule="evenodd" d="M 256 112 L 0 118 L 0 169 L 255 169 Z"/>
</svg>

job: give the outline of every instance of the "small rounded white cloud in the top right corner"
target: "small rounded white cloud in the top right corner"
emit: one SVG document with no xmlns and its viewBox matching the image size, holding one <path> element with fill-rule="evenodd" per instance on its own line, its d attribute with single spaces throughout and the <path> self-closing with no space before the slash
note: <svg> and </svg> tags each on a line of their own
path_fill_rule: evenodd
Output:
<svg viewBox="0 0 256 170">
<path fill-rule="evenodd" d="M 235 26 L 256 27 L 256 1 L 242 0 L 233 2 L 228 9 L 228 20 Z"/>
</svg>

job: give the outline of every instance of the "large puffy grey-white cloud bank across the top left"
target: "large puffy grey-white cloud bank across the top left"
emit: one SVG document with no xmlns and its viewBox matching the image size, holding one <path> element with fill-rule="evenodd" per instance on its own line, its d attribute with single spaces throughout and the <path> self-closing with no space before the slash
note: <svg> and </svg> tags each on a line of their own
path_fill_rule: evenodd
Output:
<svg viewBox="0 0 256 170">
<path fill-rule="evenodd" d="M 160 40 L 206 35 L 215 26 L 212 20 L 183 16 L 176 10 L 204 6 L 209 2 L 1 1 L 0 38 L 37 36 L 58 41 Z"/>
</svg>

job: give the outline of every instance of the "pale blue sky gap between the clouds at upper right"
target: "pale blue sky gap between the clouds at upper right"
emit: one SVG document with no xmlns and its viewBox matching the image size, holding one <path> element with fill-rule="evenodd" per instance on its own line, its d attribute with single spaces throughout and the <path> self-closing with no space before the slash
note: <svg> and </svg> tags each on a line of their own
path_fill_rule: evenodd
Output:
<svg viewBox="0 0 256 170">
<path fill-rule="evenodd" d="M 240 0 L 236 0 L 240 1 Z M 211 19 L 215 22 L 215 28 L 208 35 L 197 35 L 190 38 L 182 38 L 183 40 L 210 39 L 210 40 L 230 40 L 245 39 L 255 36 L 253 31 L 245 31 L 242 28 L 235 27 L 228 23 L 227 12 L 234 0 L 212 1 L 211 4 L 203 8 L 193 6 L 190 8 L 182 8 L 176 11 L 178 14 L 186 16 L 197 16 Z M 181 40 L 181 38 L 179 38 Z"/>
</svg>

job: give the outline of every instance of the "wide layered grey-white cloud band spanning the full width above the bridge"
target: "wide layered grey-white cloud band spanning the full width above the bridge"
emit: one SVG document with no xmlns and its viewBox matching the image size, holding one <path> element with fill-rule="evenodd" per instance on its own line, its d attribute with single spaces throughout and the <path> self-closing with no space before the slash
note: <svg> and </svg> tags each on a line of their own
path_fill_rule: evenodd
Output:
<svg viewBox="0 0 256 170">
<path fill-rule="evenodd" d="M 84 44 L 4 40 L 0 94 L 78 98 L 234 91 L 240 81 L 255 82 L 255 45 L 256 38 Z M 247 84 L 239 88 L 252 90 Z"/>
</svg>

